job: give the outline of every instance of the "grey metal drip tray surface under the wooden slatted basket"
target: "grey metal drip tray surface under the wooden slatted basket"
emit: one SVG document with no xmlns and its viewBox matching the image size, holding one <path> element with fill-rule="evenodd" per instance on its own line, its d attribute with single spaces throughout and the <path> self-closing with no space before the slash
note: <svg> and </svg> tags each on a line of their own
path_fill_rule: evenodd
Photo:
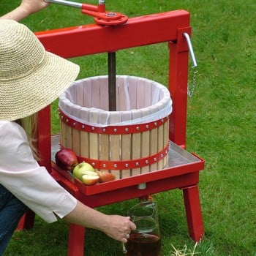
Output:
<svg viewBox="0 0 256 256">
<path fill-rule="evenodd" d="M 51 136 L 51 159 L 55 162 L 55 154 L 60 149 L 60 135 Z M 180 146 L 177 146 L 173 142 L 169 142 L 168 163 L 165 168 L 176 167 L 179 165 L 187 165 L 194 162 L 200 162 L 201 160 L 195 157 L 195 155 L 184 150 Z"/>
</svg>

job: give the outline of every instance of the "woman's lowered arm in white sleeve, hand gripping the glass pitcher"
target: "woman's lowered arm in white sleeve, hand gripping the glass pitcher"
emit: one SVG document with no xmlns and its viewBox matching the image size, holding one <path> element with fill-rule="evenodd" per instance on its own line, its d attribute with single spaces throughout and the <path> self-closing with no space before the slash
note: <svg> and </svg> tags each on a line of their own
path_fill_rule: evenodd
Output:
<svg viewBox="0 0 256 256">
<path fill-rule="evenodd" d="M 0 131 L 0 183 L 15 197 L 46 222 L 55 222 L 59 216 L 127 242 L 127 234 L 135 229 L 129 217 L 103 214 L 70 195 L 45 167 L 39 167 L 20 125 L 0 121 Z"/>
</svg>

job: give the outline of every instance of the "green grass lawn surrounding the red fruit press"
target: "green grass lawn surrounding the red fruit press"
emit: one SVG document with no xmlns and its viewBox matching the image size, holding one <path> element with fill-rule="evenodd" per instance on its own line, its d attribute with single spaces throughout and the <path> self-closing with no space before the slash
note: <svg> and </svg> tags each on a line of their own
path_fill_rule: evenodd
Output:
<svg viewBox="0 0 256 256">
<path fill-rule="evenodd" d="M 2 1 L 0 15 L 12 10 L 18 2 Z M 197 244 L 196 252 L 209 256 L 255 256 L 255 0 L 122 0 L 107 1 L 106 6 L 107 10 L 123 12 L 129 17 L 178 9 L 191 13 L 192 44 L 199 72 L 195 94 L 188 101 L 187 150 L 206 160 L 199 183 L 206 234 Z M 75 8 L 54 4 L 23 20 L 33 31 L 92 22 Z M 166 51 L 166 45 L 162 44 L 120 51 L 117 72 L 166 84 Z M 105 54 L 72 61 L 81 65 L 79 78 L 107 73 Z M 53 132 L 58 131 L 55 102 Z M 170 256 L 172 245 L 180 250 L 186 245 L 192 250 L 195 243 L 187 234 L 181 191 L 157 194 L 155 200 L 159 205 L 162 255 Z M 129 200 L 99 210 L 125 214 L 133 203 Z M 119 252 L 118 242 L 96 230 L 87 230 L 85 255 L 116 256 Z M 66 254 L 67 224 L 60 221 L 49 225 L 37 217 L 34 229 L 15 233 L 5 255 Z"/>
</svg>

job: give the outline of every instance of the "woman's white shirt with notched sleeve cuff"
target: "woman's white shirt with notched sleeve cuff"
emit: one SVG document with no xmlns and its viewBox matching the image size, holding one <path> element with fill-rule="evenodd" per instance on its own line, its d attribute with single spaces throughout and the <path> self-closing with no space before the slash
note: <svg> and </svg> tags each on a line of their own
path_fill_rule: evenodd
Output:
<svg viewBox="0 0 256 256">
<path fill-rule="evenodd" d="M 46 222 L 55 222 L 55 214 L 63 218 L 77 203 L 38 165 L 26 132 L 12 121 L 0 121 L 0 184 Z"/>
</svg>

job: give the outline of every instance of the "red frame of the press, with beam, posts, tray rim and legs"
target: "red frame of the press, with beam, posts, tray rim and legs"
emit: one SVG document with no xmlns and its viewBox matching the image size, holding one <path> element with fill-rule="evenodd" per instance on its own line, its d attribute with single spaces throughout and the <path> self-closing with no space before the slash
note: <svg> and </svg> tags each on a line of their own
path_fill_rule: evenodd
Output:
<svg viewBox="0 0 256 256">
<path fill-rule="evenodd" d="M 189 50 L 183 34 L 190 34 L 189 12 L 177 10 L 137 18 L 129 18 L 120 26 L 99 26 L 90 24 L 64 29 L 37 32 L 46 50 L 64 58 L 86 56 L 95 53 L 109 53 L 125 48 L 167 42 L 170 49 L 168 88 L 173 99 L 170 115 L 170 140 L 178 146 L 186 146 L 187 127 L 187 74 Z M 148 175 L 126 178 L 124 181 L 106 185 L 108 191 L 92 192 L 86 195 L 78 184 L 66 178 L 52 162 L 50 167 L 50 107 L 39 112 L 39 151 L 43 156 L 42 165 L 48 167 L 53 178 L 78 200 L 88 206 L 97 207 L 135 197 L 146 197 L 170 189 L 182 189 L 187 213 L 189 236 L 199 241 L 203 236 L 203 219 L 197 184 L 199 171 L 203 170 L 203 159 L 195 165 L 184 165 L 165 169 L 165 175 L 153 172 Z M 159 170 L 161 172 L 161 170 Z M 152 175 L 152 176 L 151 176 Z M 121 184 L 121 182 L 123 182 Z M 146 189 L 138 184 L 146 182 Z M 101 187 L 102 188 L 102 187 Z M 27 219 L 27 221 L 26 221 Z M 27 224 L 29 223 L 29 224 Z M 31 218 L 23 217 L 19 228 L 31 227 Z M 82 256 L 85 228 L 69 225 L 68 255 Z"/>
</svg>

